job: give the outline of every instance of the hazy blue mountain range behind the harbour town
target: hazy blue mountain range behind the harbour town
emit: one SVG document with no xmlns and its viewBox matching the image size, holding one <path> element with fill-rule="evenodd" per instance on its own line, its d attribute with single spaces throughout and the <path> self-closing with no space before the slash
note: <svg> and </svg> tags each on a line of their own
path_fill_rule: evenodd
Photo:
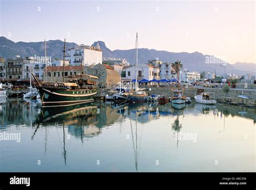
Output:
<svg viewBox="0 0 256 190">
<path fill-rule="evenodd" d="M 134 64 L 134 49 L 130 50 L 110 50 L 107 48 L 104 42 L 97 41 L 92 45 L 99 43 L 100 49 L 102 49 L 104 58 L 125 58 L 130 64 Z M 63 57 L 63 44 L 62 40 L 49 40 L 46 41 L 46 51 L 47 56 L 52 58 L 62 58 Z M 77 45 L 76 43 L 66 42 L 66 48 L 71 48 Z M 13 42 L 5 37 L 0 37 L 0 57 L 12 58 L 16 55 L 21 57 L 28 56 L 44 56 L 44 42 Z M 213 60 L 212 62 L 207 62 L 207 59 Z M 224 73 L 224 67 L 219 65 L 225 65 L 226 73 L 236 73 L 236 74 L 246 74 L 253 73 L 256 74 L 256 64 L 254 63 L 240 63 L 229 64 L 224 62 L 213 55 L 203 55 L 200 52 L 169 52 L 169 51 L 159 51 L 154 49 L 140 48 L 138 49 L 138 64 L 147 63 L 147 60 L 159 59 L 162 62 L 175 62 L 180 60 L 183 67 L 188 71 L 211 71 L 216 72 L 218 75 Z M 215 61 L 214 61 L 215 60 Z"/>
</svg>

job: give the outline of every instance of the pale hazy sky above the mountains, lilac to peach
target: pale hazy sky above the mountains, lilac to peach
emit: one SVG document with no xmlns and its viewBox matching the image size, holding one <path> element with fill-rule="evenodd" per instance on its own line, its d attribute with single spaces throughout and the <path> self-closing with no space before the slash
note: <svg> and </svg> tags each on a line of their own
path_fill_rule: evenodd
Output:
<svg viewBox="0 0 256 190">
<path fill-rule="evenodd" d="M 2 1 L 0 35 L 14 42 L 102 40 L 111 50 L 199 51 L 255 62 L 255 2 Z"/>
</svg>

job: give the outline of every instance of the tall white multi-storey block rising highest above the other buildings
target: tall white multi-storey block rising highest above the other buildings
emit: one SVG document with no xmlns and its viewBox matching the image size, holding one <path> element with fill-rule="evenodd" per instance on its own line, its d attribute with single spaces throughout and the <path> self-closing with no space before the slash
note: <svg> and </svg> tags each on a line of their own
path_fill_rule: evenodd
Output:
<svg viewBox="0 0 256 190">
<path fill-rule="evenodd" d="M 72 66 L 79 66 L 81 62 L 82 65 L 102 64 L 102 50 L 100 50 L 99 44 L 96 47 L 82 44 L 70 48 L 66 59 L 69 60 L 69 64 Z"/>
</svg>

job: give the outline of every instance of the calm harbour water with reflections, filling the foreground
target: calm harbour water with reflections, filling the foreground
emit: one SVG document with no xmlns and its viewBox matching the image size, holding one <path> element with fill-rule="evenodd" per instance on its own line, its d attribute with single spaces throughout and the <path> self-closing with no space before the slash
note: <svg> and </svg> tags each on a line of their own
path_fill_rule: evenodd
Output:
<svg viewBox="0 0 256 190">
<path fill-rule="evenodd" d="M 255 123 L 256 109 L 218 103 L 41 108 L 8 99 L 0 171 L 255 172 Z"/>
</svg>

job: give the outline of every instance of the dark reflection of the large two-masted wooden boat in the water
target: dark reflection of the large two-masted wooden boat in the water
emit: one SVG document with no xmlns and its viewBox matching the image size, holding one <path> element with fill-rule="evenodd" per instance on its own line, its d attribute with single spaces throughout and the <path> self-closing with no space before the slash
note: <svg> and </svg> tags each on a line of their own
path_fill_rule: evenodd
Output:
<svg viewBox="0 0 256 190">
<path fill-rule="evenodd" d="M 36 129 L 32 134 L 31 140 L 35 137 L 39 126 L 44 126 L 46 152 L 47 126 L 62 126 L 63 157 L 66 165 L 65 127 L 68 126 L 68 133 L 74 135 L 76 138 L 80 138 L 83 144 L 84 137 L 93 137 L 100 133 L 100 128 L 94 125 L 97 123 L 97 111 L 97 106 L 93 103 L 42 107 L 39 110 L 39 116 L 35 122 Z"/>
</svg>

